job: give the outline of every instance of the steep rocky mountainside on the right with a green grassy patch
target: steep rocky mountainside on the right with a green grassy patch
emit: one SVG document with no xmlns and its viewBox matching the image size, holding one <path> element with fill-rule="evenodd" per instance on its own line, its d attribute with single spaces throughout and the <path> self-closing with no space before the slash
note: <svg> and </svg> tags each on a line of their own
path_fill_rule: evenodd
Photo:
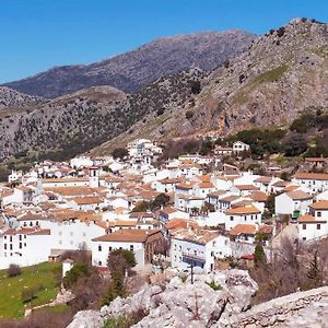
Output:
<svg viewBox="0 0 328 328">
<path fill-rule="evenodd" d="M 327 94 L 328 25 L 295 19 L 215 69 L 202 80 L 201 92 L 167 114 L 165 121 L 156 125 L 150 115 L 96 152 L 136 137 L 223 136 L 285 125 L 308 108 L 327 108 Z"/>
</svg>

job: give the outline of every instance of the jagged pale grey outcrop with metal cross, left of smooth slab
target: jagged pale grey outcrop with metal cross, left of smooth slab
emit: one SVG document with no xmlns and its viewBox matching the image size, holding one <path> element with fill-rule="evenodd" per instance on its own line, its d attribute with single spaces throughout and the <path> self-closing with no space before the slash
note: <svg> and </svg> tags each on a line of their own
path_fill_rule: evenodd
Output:
<svg viewBox="0 0 328 328">
<path fill-rule="evenodd" d="M 136 328 L 210 327 L 218 320 L 227 323 L 246 311 L 256 291 L 256 282 L 243 270 L 195 274 L 192 284 L 190 277 L 185 282 L 175 277 L 166 285 L 152 285 L 130 297 L 118 297 L 97 314 L 78 313 L 69 328 L 102 327 L 108 318 L 140 309 L 149 315 Z"/>
</svg>

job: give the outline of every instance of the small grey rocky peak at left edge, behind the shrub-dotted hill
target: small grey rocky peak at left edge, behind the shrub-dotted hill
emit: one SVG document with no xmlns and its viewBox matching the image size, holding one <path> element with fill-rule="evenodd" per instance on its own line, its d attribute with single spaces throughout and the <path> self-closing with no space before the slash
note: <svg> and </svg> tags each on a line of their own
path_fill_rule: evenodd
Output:
<svg viewBox="0 0 328 328">
<path fill-rule="evenodd" d="M 43 103 L 44 99 L 37 96 L 30 96 L 20 93 L 7 86 L 0 86 L 0 109 L 7 107 L 22 107 L 25 105 L 36 105 Z"/>
</svg>

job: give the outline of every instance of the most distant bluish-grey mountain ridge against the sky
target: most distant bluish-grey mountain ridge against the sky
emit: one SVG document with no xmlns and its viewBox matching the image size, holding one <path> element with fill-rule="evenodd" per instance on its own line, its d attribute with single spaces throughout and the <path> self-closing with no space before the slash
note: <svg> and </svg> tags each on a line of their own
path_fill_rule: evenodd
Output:
<svg viewBox="0 0 328 328">
<path fill-rule="evenodd" d="M 140 48 L 86 66 L 55 67 L 5 85 L 54 98 L 96 85 L 134 93 L 161 77 L 198 67 L 213 70 L 239 55 L 256 38 L 245 31 L 208 32 L 160 38 Z"/>
</svg>

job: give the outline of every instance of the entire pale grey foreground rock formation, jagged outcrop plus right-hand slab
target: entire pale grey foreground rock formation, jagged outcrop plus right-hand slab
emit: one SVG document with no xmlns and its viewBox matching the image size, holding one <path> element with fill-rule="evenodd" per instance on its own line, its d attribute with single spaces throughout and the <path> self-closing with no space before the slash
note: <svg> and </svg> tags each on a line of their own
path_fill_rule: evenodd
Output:
<svg viewBox="0 0 328 328">
<path fill-rule="evenodd" d="M 250 308 L 256 282 L 247 271 L 226 270 L 179 277 L 162 285 L 147 285 L 137 294 L 117 297 L 99 312 L 78 313 L 68 328 L 98 328 L 107 319 L 140 309 L 148 313 L 134 328 L 315 328 L 328 327 L 328 286 L 297 292 Z M 212 286 L 221 286 L 214 290 Z"/>
</svg>

